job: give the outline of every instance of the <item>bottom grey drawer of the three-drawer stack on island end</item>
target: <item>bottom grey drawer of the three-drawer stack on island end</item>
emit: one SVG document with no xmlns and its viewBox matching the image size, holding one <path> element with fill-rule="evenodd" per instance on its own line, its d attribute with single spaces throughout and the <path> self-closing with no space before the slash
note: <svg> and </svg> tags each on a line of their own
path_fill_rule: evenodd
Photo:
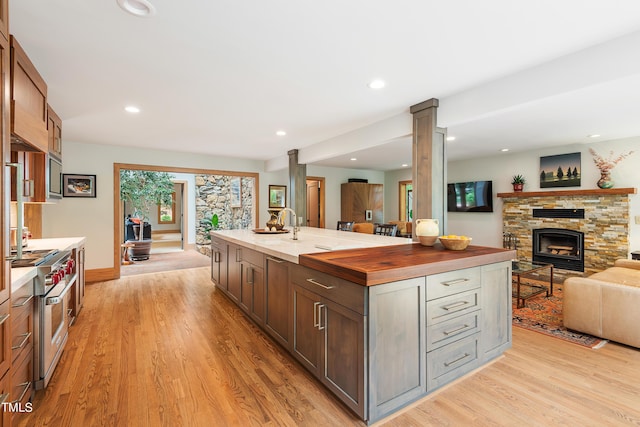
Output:
<svg viewBox="0 0 640 427">
<path fill-rule="evenodd" d="M 479 333 L 427 353 L 427 391 L 436 389 L 478 366 Z"/>
</svg>

